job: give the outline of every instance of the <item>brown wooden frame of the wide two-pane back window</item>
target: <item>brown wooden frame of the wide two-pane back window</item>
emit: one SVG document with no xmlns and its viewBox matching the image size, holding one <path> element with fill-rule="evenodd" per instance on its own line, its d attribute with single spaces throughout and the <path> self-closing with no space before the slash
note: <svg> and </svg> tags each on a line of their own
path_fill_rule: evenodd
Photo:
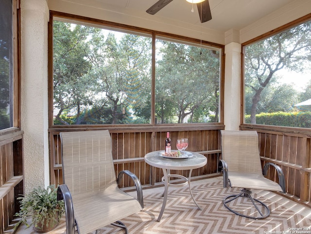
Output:
<svg viewBox="0 0 311 234">
<path fill-rule="evenodd" d="M 103 29 L 115 30 L 123 33 L 131 33 L 137 35 L 150 35 L 152 38 L 152 76 L 151 76 L 151 124 L 120 124 L 120 125 L 54 125 L 53 124 L 53 20 L 60 20 L 63 22 L 79 23 L 86 26 L 94 26 Z M 168 127 L 182 127 L 183 129 L 187 126 L 210 126 L 210 125 L 223 125 L 224 124 L 224 80 L 225 80 L 225 45 L 204 41 L 201 39 L 190 38 L 187 36 L 178 36 L 170 33 L 164 33 L 144 28 L 139 28 L 130 25 L 124 25 L 120 23 L 87 18 L 77 15 L 72 15 L 68 13 L 50 11 L 50 20 L 48 25 L 48 43 L 49 43 L 49 128 L 51 129 L 63 129 L 63 128 L 93 128 L 101 127 L 105 129 L 109 128 L 168 128 Z M 163 38 L 169 41 L 178 41 L 187 45 L 202 46 L 202 48 L 215 48 L 215 50 L 220 52 L 220 80 L 219 80 L 219 122 L 218 123 L 193 123 L 193 124 L 156 124 L 155 123 L 155 40 L 156 38 Z"/>
</svg>

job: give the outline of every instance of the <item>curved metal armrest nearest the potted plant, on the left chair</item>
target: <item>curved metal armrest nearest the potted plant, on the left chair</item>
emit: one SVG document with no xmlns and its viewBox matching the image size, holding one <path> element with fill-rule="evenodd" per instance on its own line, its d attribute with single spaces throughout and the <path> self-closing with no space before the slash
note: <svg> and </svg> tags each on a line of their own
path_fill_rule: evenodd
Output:
<svg viewBox="0 0 311 234">
<path fill-rule="evenodd" d="M 66 184 L 61 184 L 57 189 L 57 200 L 64 200 L 66 213 L 67 234 L 74 234 L 74 214 L 72 198 Z"/>
</svg>

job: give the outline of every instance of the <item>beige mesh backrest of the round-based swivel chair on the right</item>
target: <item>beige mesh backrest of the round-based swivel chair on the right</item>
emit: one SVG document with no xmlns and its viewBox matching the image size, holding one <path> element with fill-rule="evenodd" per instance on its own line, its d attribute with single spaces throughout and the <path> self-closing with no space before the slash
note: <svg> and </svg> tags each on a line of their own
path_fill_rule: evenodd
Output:
<svg viewBox="0 0 311 234">
<path fill-rule="evenodd" d="M 222 159 L 228 171 L 262 174 L 256 131 L 221 130 Z"/>
</svg>

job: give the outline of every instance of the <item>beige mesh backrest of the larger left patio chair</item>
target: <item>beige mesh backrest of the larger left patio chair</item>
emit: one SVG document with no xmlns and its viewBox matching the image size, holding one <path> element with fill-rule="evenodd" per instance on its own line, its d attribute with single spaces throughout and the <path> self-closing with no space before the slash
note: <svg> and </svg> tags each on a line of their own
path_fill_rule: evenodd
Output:
<svg viewBox="0 0 311 234">
<path fill-rule="evenodd" d="M 71 196 L 116 184 L 108 130 L 62 132 L 60 136 L 63 179 Z"/>
</svg>

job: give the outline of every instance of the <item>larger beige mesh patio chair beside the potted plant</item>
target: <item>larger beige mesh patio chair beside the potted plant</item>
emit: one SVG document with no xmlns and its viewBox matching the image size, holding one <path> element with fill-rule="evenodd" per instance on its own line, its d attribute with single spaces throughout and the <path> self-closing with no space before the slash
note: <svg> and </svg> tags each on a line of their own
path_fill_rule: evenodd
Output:
<svg viewBox="0 0 311 234">
<path fill-rule="evenodd" d="M 62 132 L 64 184 L 58 199 L 64 199 L 67 234 L 91 233 L 143 209 L 141 184 L 129 171 L 121 171 L 116 181 L 108 130 Z M 134 180 L 138 199 L 118 187 L 123 174 Z M 97 231 L 96 231 L 97 233 Z"/>
</svg>

